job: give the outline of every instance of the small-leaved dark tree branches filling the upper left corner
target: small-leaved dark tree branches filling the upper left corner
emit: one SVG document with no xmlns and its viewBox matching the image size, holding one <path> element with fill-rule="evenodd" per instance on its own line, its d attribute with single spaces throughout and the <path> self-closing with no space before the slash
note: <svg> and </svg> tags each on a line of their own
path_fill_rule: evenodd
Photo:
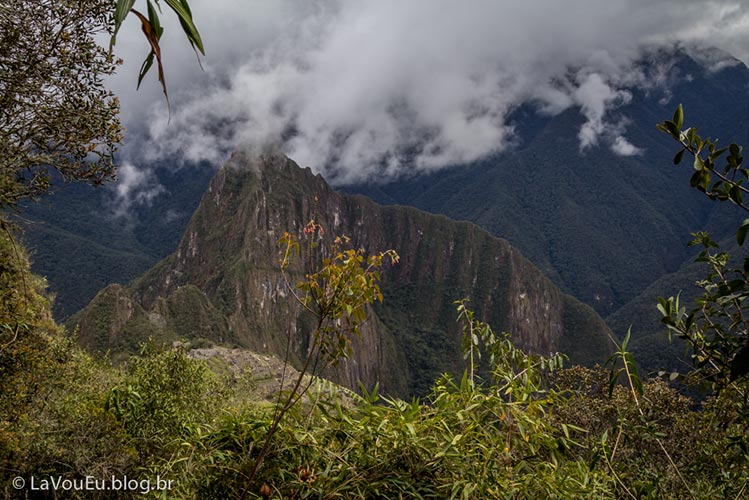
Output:
<svg viewBox="0 0 749 500">
<path fill-rule="evenodd" d="M 103 81 L 116 64 L 96 41 L 111 32 L 111 8 L 109 0 L 0 6 L 0 210 L 46 194 L 52 171 L 93 185 L 114 177 L 122 129 Z"/>
</svg>

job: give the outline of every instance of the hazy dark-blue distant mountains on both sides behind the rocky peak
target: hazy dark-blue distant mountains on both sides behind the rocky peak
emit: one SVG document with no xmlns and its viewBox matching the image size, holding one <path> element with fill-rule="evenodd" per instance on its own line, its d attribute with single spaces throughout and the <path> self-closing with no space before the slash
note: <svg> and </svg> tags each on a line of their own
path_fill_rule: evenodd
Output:
<svg viewBox="0 0 749 500">
<path fill-rule="evenodd" d="M 653 52 L 642 62 L 645 69 L 657 64 L 670 68 L 668 86 L 632 89 L 631 102 L 614 111 L 626 118 L 625 135 L 640 155 L 622 157 L 605 147 L 581 152 L 579 110 L 543 116 L 528 104 L 513 114 L 519 144 L 510 151 L 343 191 L 476 223 L 591 305 L 616 334 L 634 323 L 633 336 L 641 338 L 634 345 L 645 358 L 653 345 L 662 354 L 657 313 L 649 304 L 659 293 L 689 288 L 698 275 L 686 246 L 689 233 L 710 229 L 717 238 L 728 237 L 739 214 L 689 188 L 688 167 L 672 165 L 675 144 L 655 124 L 683 103 L 688 125 L 724 143 L 746 143 L 749 69 L 738 61 L 708 67 L 684 51 Z M 151 206 L 136 207 L 133 220 L 112 219 L 109 192 L 81 186 L 24 213 L 31 221 L 26 240 L 34 269 L 48 277 L 59 316 L 83 307 L 107 283 L 128 282 L 177 246 L 213 171 L 155 171 L 166 193 Z"/>
</svg>

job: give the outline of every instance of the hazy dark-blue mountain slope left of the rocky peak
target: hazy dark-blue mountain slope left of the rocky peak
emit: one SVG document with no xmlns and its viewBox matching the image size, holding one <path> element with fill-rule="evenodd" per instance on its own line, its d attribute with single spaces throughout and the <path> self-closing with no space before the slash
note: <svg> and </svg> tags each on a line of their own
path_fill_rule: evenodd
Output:
<svg viewBox="0 0 749 500">
<path fill-rule="evenodd" d="M 126 215 L 114 215 L 110 187 L 59 182 L 54 195 L 23 207 L 22 238 L 33 271 L 55 294 L 56 317 L 83 308 L 110 283 L 129 282 L 176 248 L 214 169 L 154 167 L 164 192 Z"/>
</svg>

